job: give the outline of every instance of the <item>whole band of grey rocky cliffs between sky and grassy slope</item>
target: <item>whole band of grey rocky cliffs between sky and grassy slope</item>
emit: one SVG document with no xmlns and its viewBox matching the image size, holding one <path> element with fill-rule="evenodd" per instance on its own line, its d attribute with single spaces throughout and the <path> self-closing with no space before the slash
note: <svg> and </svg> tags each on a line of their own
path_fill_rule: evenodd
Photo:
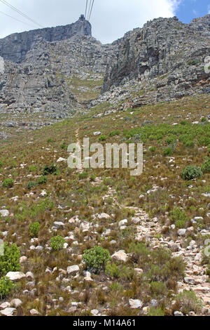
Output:
<svg viewBox="0 0 210 330">
<path fill-rule="evenodd" d="M 102 102 L 123 109 L 209 93 L 209 20 L 158 18 L 110 45 L 83 17 L 1 39 L 0 113 L 59 119 Z"/>
</svg>

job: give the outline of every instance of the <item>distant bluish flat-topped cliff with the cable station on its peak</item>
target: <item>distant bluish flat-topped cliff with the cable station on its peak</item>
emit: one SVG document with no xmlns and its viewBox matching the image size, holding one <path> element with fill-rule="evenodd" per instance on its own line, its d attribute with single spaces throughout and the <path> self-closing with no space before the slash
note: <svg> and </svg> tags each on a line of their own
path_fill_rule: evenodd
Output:
<svg viewBox="0 0 210 330">
<path fill-rule="evenodd" d="M 90 22 L 83 16 L 71 24 L 59 27 L 46 27 L 45 29 L 34 29 L 29 32 L 15 33 L 0 39 L 0 56 L 5 60 L 22 62 L 26 54 L 38 40 L 48 42 L 70 39 L 75 36 L 91 36 Z"/>
</svg>

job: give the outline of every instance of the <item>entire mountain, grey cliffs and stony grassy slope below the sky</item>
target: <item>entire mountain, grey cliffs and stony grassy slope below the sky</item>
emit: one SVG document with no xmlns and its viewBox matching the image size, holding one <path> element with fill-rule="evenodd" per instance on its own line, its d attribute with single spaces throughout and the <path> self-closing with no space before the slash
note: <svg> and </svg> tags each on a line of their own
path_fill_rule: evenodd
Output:
<svg viewBox="0 0 210 330">
<path fill-rule="evenodd" d="M 209 92 L 210 15 L 0 40 L 0 316 L 210 315 Z"/>
</svg>

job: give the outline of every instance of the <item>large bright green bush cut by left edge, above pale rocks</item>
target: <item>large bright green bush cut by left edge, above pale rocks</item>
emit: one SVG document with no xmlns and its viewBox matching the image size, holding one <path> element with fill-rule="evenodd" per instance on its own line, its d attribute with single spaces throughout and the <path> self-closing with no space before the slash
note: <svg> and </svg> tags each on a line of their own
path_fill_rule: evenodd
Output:
<svg viewBox="0 0 210 330">
<path fill-rule="evenodd" d="M 20 270 L 20 250 L 16 244 L 4 243 L 4 253 L 0 256 L 0 277 L 5 276 L 8 272 L 17 272 Z"/>
</svg>

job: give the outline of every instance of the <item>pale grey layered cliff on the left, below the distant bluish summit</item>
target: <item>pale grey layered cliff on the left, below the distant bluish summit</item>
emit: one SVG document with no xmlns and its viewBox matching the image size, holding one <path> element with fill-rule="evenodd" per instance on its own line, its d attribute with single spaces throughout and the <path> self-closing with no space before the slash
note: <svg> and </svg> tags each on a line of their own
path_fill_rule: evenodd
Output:
<svg viewBox="0 0 210 330">
<path fill-rule="evenodd" d="M 37 41 L 22 63 L 0 60 L 0 112 L 67 117 L 97 98 L 113 46 L 90 36 Z"/>
</svg>

